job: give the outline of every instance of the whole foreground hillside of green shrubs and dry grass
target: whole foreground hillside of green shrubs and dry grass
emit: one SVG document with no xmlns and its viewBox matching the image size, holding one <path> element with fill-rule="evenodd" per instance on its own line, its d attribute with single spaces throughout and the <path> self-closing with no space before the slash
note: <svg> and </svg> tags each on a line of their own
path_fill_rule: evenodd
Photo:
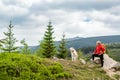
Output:
<svg viewBox="0 0 120 80">
<path fill-rule="evenodd" d="M 118 77 L 118 76 L 116 76 Z M 0 54 L 0 80 L 111 80 L 100 65 L 43 59 L 18 53 Z"/>
</svg>

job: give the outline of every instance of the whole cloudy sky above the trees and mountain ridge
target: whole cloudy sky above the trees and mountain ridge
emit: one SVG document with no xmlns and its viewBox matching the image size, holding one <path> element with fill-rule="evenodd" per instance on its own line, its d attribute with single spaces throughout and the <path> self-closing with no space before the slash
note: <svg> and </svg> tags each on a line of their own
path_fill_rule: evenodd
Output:
<svg viewBox="0 0 120 80">
<path fill-rule="evenodd" d="M 39 45 L 48 22 L 55 40 L 120 35 L 120 0 L 0 0 L 0 39 L 12 20 L 14 37 Z M 17 45 L 20 45 L 20 43 Z"/>
</svg>

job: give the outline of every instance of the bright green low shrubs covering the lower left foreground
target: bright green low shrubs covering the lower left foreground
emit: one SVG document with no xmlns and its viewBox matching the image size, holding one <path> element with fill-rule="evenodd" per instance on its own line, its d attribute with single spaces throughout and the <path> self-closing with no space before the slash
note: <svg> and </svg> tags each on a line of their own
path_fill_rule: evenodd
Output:
<svg viewBox="0 0 120 80">
<path fill-rule="evenodd" d="M 69 75 L 57 62 L 30 54 L 0 54 L 0 80 L 62 80 Z"/>
</svg>

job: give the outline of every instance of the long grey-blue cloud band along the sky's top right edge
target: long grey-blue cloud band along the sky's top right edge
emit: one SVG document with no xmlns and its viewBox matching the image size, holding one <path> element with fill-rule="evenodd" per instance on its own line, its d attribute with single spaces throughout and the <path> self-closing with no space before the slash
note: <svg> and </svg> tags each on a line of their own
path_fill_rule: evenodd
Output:
<svg viewBox="0 0 120 80">
<path fill-rule="evenodd" d="M 47 11 L 49 9 L 64 9 L 68 11 L 78 10 L 103 10 L 119 5 L 119 0 L 45 0 L 43 4 L 35 4 L 31 8 L 33 11 Z"/>
</svg>

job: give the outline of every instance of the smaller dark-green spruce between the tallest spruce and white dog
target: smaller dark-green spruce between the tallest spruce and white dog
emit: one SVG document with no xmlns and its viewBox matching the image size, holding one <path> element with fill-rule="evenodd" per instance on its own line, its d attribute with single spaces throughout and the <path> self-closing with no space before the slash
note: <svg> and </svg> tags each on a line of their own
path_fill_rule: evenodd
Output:
<svg viewBox="0 0 120 80">
<path fill-rule="evenodd" d="M 59 53 L 57 54 L 58 58 L 65 59 L 67 57 L 67 47 L 66 47 L 66 40 L 65 40 L 65 34 L 62 35 L 62 39 L 59 44 Z"/>
</svg>

